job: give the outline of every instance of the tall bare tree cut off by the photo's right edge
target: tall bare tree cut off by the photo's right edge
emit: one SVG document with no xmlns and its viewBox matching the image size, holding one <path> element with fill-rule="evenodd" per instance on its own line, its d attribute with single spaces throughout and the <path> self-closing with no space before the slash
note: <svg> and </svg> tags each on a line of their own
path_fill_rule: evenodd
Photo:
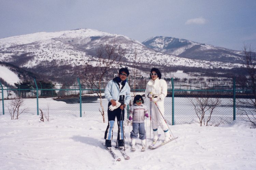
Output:
<svg viewBox="0 0 256 170">
<path fill-rule="evenodd" d="M 243 51 L 244 64 L 248 72 L 246 79 L 244 79 L 244 84 L 252 91 L 253 97 L 250 99 L 237 99 L 237 107 L 239 114 L 244 116 L 244 120 L 251 122 L 256 127 L 256 53 L 251 45 L 244 45 Z"/>
</svg>

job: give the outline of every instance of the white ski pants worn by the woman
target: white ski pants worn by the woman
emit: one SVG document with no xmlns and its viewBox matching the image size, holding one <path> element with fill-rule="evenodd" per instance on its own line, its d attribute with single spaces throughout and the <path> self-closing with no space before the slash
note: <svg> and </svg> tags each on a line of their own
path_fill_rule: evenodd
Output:
<svg viewBox="0 0 256 170">
<path fill-rule="evenodd" d="M 157 106 L 160 110 L 158 110 Z M 156 102 L 156 104 L 154 102 L 151 102 L 151 123 L 152 123 L 152 129 L 157 129 L 158 126 L 160 126 L 162 128 L 163 131 L 168 130 L 168 126 L 165 122 L 165 120 L 163 119 L 164 113 L 165 113 L 165 108 L 163 105 L 163 101 L 158 101 Z"/>
</svg>

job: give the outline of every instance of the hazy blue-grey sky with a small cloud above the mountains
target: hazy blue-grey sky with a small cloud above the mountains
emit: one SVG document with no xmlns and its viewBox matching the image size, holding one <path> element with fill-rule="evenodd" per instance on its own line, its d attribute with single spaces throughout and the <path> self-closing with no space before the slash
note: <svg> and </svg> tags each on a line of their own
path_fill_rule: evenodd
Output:
<svg viewBox="0 0 256 170">
<path fill-rule="evenodd" d="M 256 48 L 255 0 L 0 0 L 0 38 L 89 28 Z"/>
</svg>

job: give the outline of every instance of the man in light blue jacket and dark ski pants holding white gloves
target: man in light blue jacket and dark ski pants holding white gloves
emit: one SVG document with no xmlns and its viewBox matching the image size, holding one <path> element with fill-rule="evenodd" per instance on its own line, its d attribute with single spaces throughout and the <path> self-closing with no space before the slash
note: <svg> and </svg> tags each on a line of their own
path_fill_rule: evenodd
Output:
<svg viewBox="0 0 256 170">
<path fill-rule="evenodd" d="M 104 139 L 106 147 L 111 146 L 111 140 L 113 137 L 113 128 L 115 124 L 115 118 L 118 125 L 118 146 L 124 147 L 124 129 L 123 122 L 125 116 L 125 106 L 127 106 L 131 100 L 131 89 L 126 79 L 129 75 L 127 68 L 121 68 L 118 73 L 118 77 L 109 81 L 105 88 L 105 98 L 109 101 L 108 104 L 108 126 L 105 131 Z M 121 120 L 121 113 L 123 119 Z"/>
</svg>

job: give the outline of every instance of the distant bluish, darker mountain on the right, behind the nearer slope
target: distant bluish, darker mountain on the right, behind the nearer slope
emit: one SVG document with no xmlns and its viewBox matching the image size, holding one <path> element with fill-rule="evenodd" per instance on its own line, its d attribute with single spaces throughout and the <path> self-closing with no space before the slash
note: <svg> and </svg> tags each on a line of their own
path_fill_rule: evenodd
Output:
<svg viewBox="0 0 256 170">
<path fill-rule="evenodd" d="M 196 43 L 186 39 L 156 36 L 145 40 L 142 44 L 156 51 L 184 58 L 242 64 L 243 51 Z"/>
</svg>

